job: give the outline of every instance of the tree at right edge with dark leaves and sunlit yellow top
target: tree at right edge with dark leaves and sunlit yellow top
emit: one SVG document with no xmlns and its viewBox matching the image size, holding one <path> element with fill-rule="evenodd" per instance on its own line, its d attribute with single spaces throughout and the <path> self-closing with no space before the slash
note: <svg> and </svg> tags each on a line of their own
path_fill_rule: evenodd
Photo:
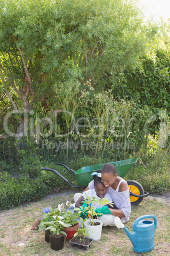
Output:
<svg viewBox="0 0 170 256">
<path fill-rule="evenodd" d="M 149 106 L 154 113 L 159 110 L 170 111 L 169 24 L 149 24 L 146 30 L 148 52 L 142 56 L 141 66 L 135 69 L 127 66 L 124 80 L 114 87 L 119 99 L 133 98 L 140 108 Z"/>
</svg>

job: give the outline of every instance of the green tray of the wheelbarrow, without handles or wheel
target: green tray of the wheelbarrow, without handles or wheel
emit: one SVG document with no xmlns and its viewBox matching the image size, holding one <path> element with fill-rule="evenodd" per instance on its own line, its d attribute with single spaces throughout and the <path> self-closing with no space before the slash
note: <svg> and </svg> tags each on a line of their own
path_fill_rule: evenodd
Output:
<svg viewBox="0 0 170 256">
<path fill-rule="evenodd" d="M 118 176 L 123 178 L 125 174 L 129 171 L 129 169 L 133 166 L 133 164 L 137 162 L 137 160 L 138 160 L 137 158 L 126 159 L 126 160 L 121 160 L 117 162 L 109 162 L 107 164 L 114 164 L 114 166 L 116 167 Z M 93 176 L 91 176 L 91 173 L 93 173 L 93 171 L 101 170 L 104 165 L 105 164 L 96 164 L 93 166 L 82 167 L 78 171 L 75 171 L 75 173 L 73 174 L 75 177 L 75 180 L 82 187 L 87 187 L 88 183 L 91 180 L 93 180 Z"/>
</svg>

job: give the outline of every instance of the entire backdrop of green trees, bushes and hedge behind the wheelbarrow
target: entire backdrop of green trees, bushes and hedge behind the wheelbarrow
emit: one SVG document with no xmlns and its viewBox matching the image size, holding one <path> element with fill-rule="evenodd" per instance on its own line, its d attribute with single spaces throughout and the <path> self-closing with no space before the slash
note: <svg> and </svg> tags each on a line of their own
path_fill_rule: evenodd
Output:
<svg viewBox="0 0 170 256">
<path fill-rule="evenodd" d="M 0 17 L 1 207 L 67 187 L 41 166 L 62 170 L 74 183 L 58 160 L 77 171 L 140 157 L 149 178 L 141 179 L 148 173 L 139 166 L 136 179 L 150 192 L 167 191 L 169 145 L 161 139 L 169 143 L 169 28 L 142 27 L 134 1 L 124 0 L 0 0 Z M 18 151 L 3 128 L 14 105 L 29 112 Z M 62 113 L 49 136 L 39 120 L 53 110 Z M 23 118 L 22 112 L 11 115 L 11 132 Z M 39 126 L 44 131 L 36 137 Z"/>
</svg>

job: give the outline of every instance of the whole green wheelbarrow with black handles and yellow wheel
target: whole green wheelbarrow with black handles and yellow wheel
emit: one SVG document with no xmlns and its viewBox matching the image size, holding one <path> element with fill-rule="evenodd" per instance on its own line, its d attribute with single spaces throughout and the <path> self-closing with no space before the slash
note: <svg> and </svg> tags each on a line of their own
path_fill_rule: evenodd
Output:
<svg viewBox="0 0 170 256">
<path fill-rule="evenodd" d="M 117 174 L 120 177 L 124 177 L 124 175 L 129 171 L 129 169 L 137 162 L 137 158 L 134 159 L 127 159 L 127 160 L 121 160 L 117 162 L 109 162 L 107 164 L 114 164 L 114 166 L 117 169 Z M 82 167 L 78 171 L 73 171 L 69 167 L 65 166 L 65 164 L 60 164 L 56 162 L 58 166 L 63 166 L 67 171 L 69 171 L 71 174 L 74 175 L 75 180 L 79 185 L 73 185 L 70 183 L 69 180 L 64 178 L 62 174 L 58 173 L 54 169 L 46 168 L 46 167 L 41 167 L 42 170 L 46 171 L 53 171 L 55 174 L 57 174 L 60 178 L 62 178 L 65 182 L 67 182 L 69 185 L 71 185 L 74 188 L 82 188 L 82 187 L 88 187 L 88 184 L 91 180 L 93 180 L 93 176 L 91 176 L 91 173 L 93 171 L 98 171 L 101 170 L 104 164 L 96 164 L 93 166 L 86 166 Z M 128 180 L 128 187 L 129 187 L 129 196 L 130 196 L 130 201 L 131 205 L 137 205 L 141 203 L 143 200 L 143 197 L 148 196 L 148 192 L 144 192 L 143 187 L 138 183 L 137 181 L 134 180 Z"/>
</svg>

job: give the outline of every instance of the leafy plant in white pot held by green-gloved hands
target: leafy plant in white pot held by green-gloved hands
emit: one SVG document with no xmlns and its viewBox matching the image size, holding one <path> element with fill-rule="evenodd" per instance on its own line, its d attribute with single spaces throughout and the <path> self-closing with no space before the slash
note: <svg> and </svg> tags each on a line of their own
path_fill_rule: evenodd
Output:
<svg viewBox="0 0 170 256">
<path fill-rule="evenodd" d="M 112 205 L 112 201 L 108 201 L 105 198 L 97 198 L 97 197 L 89 197 L 84 200 L 84 203 L 80 208 L 74 208 L 75 211 L 78 211 L 79 214 L 85 217 L 84 219 L 84 227 L 88 232 L 88 238 L 98 240 L 101 237 L 102 224 L 101 220 L 98 220 L 97 217 L 103 215 L 105 212 L 105 208 L 107 204 Z M 96 208 L 95 206 L 100 206 Z"/>
</svg>

